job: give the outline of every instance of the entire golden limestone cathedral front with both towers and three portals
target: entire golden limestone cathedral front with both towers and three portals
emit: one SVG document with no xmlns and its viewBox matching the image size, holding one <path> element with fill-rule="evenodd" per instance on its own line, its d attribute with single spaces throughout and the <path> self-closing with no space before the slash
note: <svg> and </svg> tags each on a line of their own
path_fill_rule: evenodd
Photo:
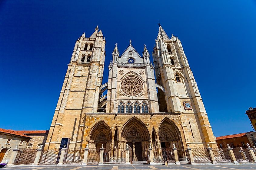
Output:
<svg viewBox="0 0 256 170">
<path fill-rule="evenodd" d="M 145 160 L 152 147 L 216 147 L 197 83 L 178 37 L 160 26 L 153 64 L 146 48 L 119 54 L 117 44 L 102 84 L 105 37 L 98 26 L 76 41 L 45 148 L 124 149 Z"/>
</svg>

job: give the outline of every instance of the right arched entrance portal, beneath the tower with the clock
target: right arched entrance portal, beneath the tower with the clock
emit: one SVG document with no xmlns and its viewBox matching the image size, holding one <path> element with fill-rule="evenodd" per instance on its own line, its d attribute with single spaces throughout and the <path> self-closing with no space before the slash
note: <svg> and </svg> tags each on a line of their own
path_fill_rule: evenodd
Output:
<svg viewBox="0 0 256 170">
<path fill-rule="evenodd" d="M 172 148 L 175 144 L 176 148 L 183 148 L 181 141 L 181 133 L 176 124 L 168 118 L 165 118 L 159 127 L 159 140 L 161 148 Z"/>
</svg>

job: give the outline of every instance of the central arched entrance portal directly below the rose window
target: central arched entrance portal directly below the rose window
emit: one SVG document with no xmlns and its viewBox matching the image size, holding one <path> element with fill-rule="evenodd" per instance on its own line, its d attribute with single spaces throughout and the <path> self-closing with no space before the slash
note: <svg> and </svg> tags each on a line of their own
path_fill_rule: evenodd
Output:
<svg viewBox="0 0 256 170">
<path fill-rule="evenodd" d="M 131 148 L 133 161 L 146 160 L 145 152 L 149 146 L 150 134 L 140 119 L 133 117 L 128 120 L 122 129 L 121 138 L 122 143 L 127 143 Z"/>
</svg>

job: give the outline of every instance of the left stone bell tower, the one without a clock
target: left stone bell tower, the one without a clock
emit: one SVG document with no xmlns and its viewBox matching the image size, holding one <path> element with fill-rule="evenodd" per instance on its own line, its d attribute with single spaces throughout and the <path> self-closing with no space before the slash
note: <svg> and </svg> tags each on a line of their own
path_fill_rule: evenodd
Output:
<svg viewBox="0 0 256 170">
<path fill-rule="evenodd" d="M 80 147 L 85 113 L 97 112 L 105 62 L 105 37 L 98 30 L 75 42 L 45 147 Z"/>
</svg>

